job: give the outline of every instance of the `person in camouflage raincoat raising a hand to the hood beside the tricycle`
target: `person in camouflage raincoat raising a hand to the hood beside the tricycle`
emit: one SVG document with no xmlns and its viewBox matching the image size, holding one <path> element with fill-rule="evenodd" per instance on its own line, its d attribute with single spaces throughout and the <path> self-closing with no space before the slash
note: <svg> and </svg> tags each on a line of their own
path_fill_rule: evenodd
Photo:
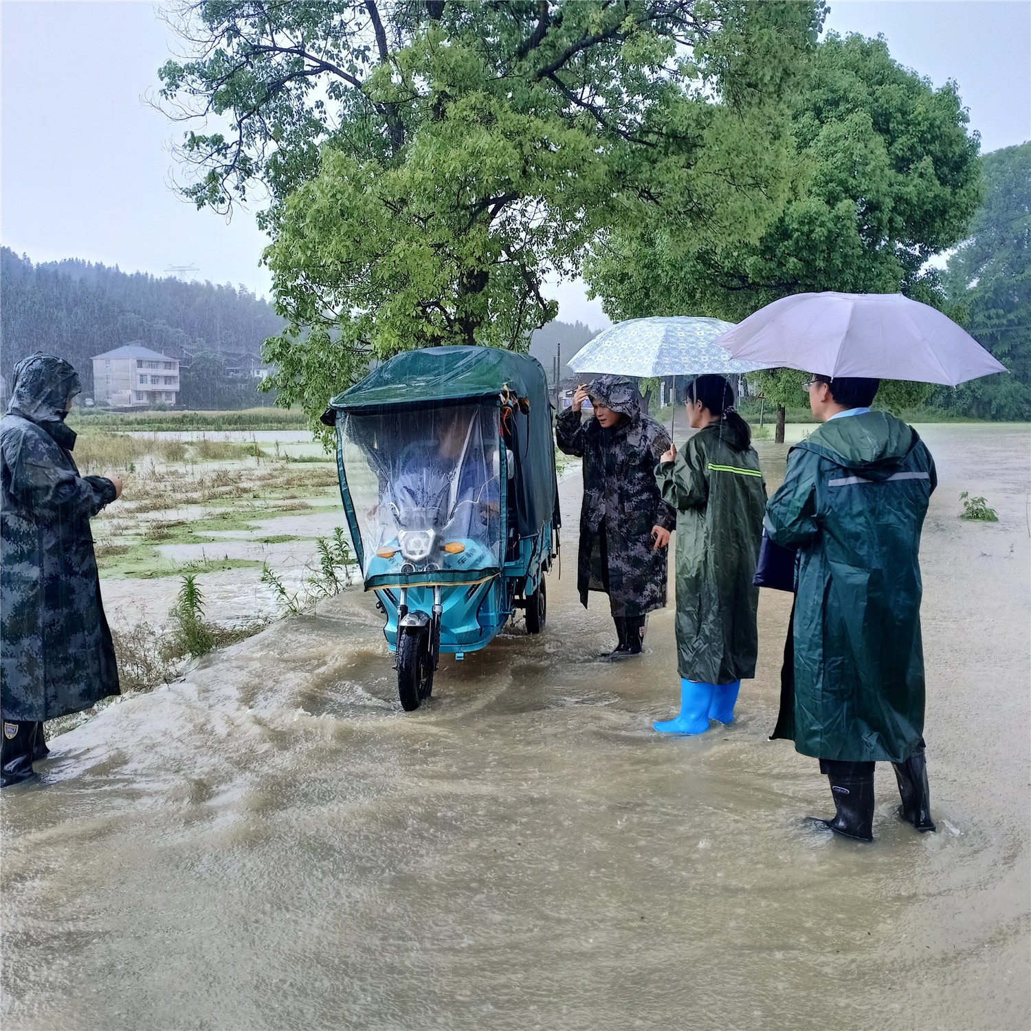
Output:
<svg viewBox="0 0 1031 1031">
<path fill-rule="evenodd" d="M 581 421 L 590 397 L 594 418 Z M 576 586 L 608 595 L 619 636 L 613 658 L 636 655 L 644 618 L 666 604 L 669 533 L 676 512 L 659 495 L 655 467 L 669 434 L 643 407 L 636 385 L 603 375 L 580 388 L 556 420 L 559 448 L 584 459 Z"/>
</svg>

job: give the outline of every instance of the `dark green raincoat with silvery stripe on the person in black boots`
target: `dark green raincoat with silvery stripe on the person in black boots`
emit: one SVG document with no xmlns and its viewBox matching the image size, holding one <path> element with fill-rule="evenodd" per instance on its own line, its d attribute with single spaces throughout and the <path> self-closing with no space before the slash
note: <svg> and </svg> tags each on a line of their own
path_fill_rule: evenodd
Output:
<svg viewBox="0 0 1031 1031">
<path fill-rule="evenodd" d="M 937 484 L 916 430 L 883 411 L 824 423 L 788 457 L 766 531 L 799 548 L 794 697 L 774 737 L 845 762 L 904 762 L 924 736 L 920 533 Z"/>
</svg>

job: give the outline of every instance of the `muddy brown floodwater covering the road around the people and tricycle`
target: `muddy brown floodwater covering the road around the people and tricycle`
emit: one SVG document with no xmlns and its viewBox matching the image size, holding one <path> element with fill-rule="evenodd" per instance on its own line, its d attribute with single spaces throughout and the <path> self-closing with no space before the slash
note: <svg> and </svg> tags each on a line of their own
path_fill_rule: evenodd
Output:
<svg viewBox="0 0 1031 1031">
<path fill-rule="evenodd" d="M 1031 436 L 925 435 L 937 834 L 888 766 L 874 844 L 801 825 L 830 797 L 767 740 L 787 596 L 738 721 L 655 734 L 672 608 L 592 662 L 574 479 L 545 632 L 442 662 L 415 713 L 351 592 L 56 738 L 0 802 L 3 1027 L 1027 1028 Z"/>
</svg>

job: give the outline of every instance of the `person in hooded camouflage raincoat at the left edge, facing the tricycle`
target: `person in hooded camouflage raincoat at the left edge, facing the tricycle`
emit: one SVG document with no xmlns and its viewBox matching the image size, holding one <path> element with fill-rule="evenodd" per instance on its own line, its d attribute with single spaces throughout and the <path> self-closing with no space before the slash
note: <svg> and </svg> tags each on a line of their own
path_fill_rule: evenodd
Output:
<svg viewBox="0 0 1031 1031">
<path fill-rule="evenodd" d="M 46 754 L 42 723 L 119 694 L 100 600 L 90 519 L 121 483 L 80 476 L 64 424 L 79 392 L 52 355 L 14 366 L 0 421 L 0 710 L 2 786 L 32 776 Z"/>
</svg>

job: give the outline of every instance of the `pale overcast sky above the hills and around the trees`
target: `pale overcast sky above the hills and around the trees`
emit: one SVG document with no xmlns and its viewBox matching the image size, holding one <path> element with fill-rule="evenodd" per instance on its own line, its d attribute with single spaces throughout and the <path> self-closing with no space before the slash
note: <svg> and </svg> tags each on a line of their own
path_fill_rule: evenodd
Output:
<svg viewBox="0 0 1031 1031">
<path fill-rule="evenodd" d="M 1031 0 L 837 0 L 827 29 L 883 33 L 935 86 L 953 78 L 993 151 L 1031 138 Z M 0 240 L 33 261 L 85 258 L 267 293 L 254 213 L 231 224 L 175 193 L 180 129 L 145 103 L 175 45 L 137 2 L 0 2 Z M 607 325 L 583 286 L 558 286 L 559 317 Z"/>
</svg>

